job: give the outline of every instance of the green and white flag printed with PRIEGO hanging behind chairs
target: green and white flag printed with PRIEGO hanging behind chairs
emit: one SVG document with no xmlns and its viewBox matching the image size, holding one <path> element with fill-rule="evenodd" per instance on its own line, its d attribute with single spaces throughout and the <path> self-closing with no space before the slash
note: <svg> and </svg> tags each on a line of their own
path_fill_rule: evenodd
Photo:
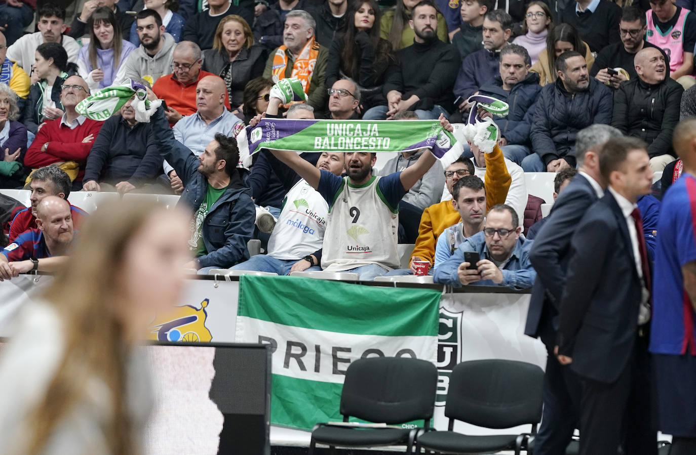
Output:
<svg viewBox="0 0 696 455">
<path fill-rule="evenodd" d="M 242 276 L 235 342 L 271 344 L 271 424 L 309 430 L 342 420 L 345 370 L 359 358 L 436 362 L 440 296 L 434 289 Z"/>
</svg>

